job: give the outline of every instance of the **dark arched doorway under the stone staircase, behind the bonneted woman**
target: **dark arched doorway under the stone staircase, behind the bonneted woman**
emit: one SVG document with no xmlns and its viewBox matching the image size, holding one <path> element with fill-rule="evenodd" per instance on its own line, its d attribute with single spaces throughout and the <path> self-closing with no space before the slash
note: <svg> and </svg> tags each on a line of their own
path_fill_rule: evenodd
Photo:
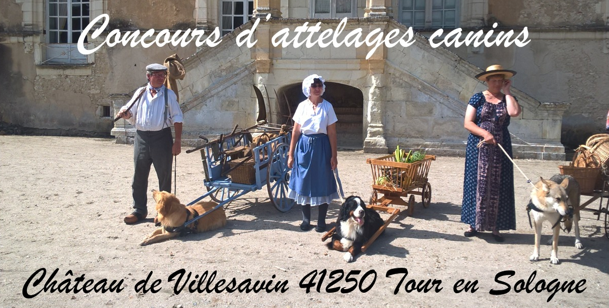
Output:
<svg viewBox="0 0 609 308">
<path fill-rule="evenodd" d="M 325 85 L 326 91 L 322 97 L 332 104 L 336 117 L 339 119 L 336 124 L 338 146 L 343 149 L 362 149 L 364 144 L 364 94 L 360 89 L 342 83 L 326 82 Z M 277 91 L 278 106 L 275 108 L 275 112 L 271 113 L 272 121 L 280 124 L 291 121 L 298 103 L 306 99 L 301 87 L 301 83 L 294 83 L 282 86 Z"/>
</svg>

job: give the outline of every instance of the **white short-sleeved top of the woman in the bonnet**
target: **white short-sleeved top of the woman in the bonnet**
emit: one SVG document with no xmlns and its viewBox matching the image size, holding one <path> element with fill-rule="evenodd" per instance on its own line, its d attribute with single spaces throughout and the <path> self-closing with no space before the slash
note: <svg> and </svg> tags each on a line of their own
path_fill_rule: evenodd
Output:
<svg viewBox="0 0 609 308">
<path fill-rule="evenodd" d="M 319 133 L 328 135 L 328 125 L 339 121 L 336 118 L 332 104 L 327 100 L 317 104 L 317 108 L 314 111 L 313 103 L 309 99 L 298 104 L 292 119 L 300 124 L 301 133 L 306 135 Z"/>
</svg>

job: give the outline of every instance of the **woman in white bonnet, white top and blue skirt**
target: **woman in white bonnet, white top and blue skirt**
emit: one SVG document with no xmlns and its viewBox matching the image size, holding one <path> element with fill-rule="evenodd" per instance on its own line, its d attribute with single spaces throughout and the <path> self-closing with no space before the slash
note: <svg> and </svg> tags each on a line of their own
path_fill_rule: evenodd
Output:
<svg viewBox="0 0 609 308">
<path fill-rule="evenodd" d="M 287 166 L 292 168 L 288 197 L 302 206 L 300 229 L 311 229 L 311 206 L 319 209 L 315 231 L 326 230 L 328 204 L 339 198 L 333 170 L 336 168 L 336 113 L 322 98 L 326 86 L 320 75 L 303 80 L 308 99 L 298 104 Z"/>
</svg>

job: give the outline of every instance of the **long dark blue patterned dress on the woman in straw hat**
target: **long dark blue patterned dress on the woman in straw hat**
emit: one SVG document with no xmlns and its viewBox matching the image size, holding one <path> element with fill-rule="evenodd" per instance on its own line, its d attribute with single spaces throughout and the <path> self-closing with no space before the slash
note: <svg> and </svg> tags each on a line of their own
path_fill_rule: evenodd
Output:
<svg viewBox="0 0 609 308">
<path fill-rule="evenodd" d="M 470 99 L 476 108 L 476 124 L 489 131 L 512 156 L 512 139 L 507 130 L 510 116 L 505 97 L 501 103 L 487 102 L 484 94 L 476 93 Z M 499 146 L 482 144 L 473 135 L 467 139 L 465 152 L 465 178 L 463 179 L 463 205 L 461 221 L 477 231 L 516 229 L 514 203 L 514 173 L 512 162 Z"/>
</svg>

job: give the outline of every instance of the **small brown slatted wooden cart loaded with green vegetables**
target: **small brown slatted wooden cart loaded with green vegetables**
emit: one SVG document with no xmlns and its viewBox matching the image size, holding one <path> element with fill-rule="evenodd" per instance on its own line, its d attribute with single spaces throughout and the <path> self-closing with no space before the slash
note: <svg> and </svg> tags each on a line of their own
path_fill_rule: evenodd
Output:
<svg viewBox="0 0 609 308">
<path fill-rule="evenodd" d="M 422 160 L 414 163 L 400 163 L 393 154 L 366 159 L 372 169 L 373 180 L 370 205 L 381 208 L 390 204 L 407 206 L 408 214 L 412 215 L 415 195 L 420 195 L 423 207 L 428 208 L 431 203 L 431 184 L 427 175 L 431 161 L 434 160 L 434 155 L 425 155 Z M 403 197 L 409 197 L 408 201 L 404 201 Z"/>
</svg>

